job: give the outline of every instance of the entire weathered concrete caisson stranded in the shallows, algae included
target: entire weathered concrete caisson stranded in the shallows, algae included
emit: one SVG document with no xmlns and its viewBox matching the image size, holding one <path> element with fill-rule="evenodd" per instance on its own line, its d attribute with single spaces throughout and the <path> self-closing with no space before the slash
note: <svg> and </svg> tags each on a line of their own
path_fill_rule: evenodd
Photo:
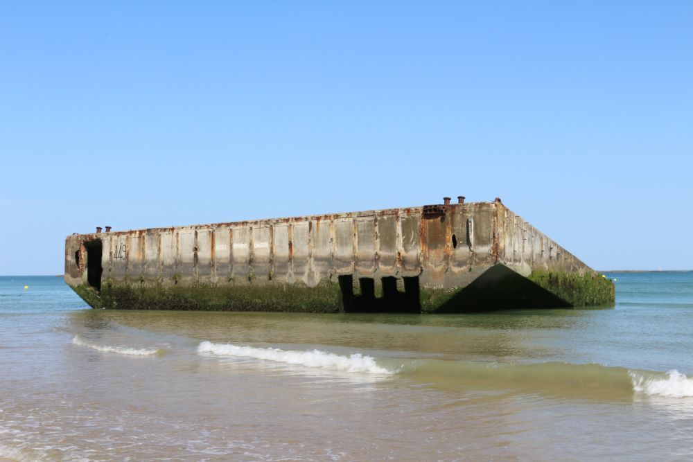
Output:
<svg viewBox="0 0 693 462">
<path fill-rule="evenodd" d="M 500 200 L 73 234 L 94 308 L 462 312 L 613 303 L 611 281 Z"/>
</svg>

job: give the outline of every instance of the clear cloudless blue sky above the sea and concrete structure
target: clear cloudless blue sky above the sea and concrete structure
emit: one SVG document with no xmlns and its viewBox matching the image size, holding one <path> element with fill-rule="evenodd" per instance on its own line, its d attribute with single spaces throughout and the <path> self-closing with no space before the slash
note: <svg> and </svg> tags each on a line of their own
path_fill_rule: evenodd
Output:
<svg viewBox="0 0 693 462">
<path fill-rule="evenodd" d="M 0 274 L 64 238 L 501 197 L 693 268 L 691 1 L 3 1 Z"/>
</svg>

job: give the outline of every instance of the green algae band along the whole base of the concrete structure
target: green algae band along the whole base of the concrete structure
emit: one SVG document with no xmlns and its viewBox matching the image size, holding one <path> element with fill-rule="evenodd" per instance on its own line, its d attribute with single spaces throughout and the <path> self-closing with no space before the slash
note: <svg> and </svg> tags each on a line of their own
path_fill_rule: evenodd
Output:
<svg viewBox="0 0 693 462">
<path fill-rule="evenodd" d="M 131 310 L 211 310 L 258 312 L 472 312 L 519 308 L 514 303 L 522 294 L 531 294 L 527 284 L 536 290 L 550 292 L 546 298 L 537 294 L 536 308 L 561 306 L 597 306 L 613 304 L 615 287 L 611 279 L 599 274 L 565 272 L 532 272 L 527 278 L 514 274 L 506 285 L 497 286 L 496 296 L 475 285 L 460 289 L 421 287 L 418 300 L 398 293 L 388 305 L 382 290 L 375 297 L 364 298 L 360 291 L 345 299 L 338 283 L 323 282 L 316 287 L 289 284 L 193 284 L 164 286 L 161 283 L 106 281 L 100 292 L 88 285 L 78 285 L 77 294 L 92 308 Z M 539 289 L 541 287 L 541 289 Z M 484 296 L 480 296 L 480 294 Z M 548 294 L 547 294 L 548 295 Z M 393 302 L 394 305 L 393 306 Z"/>
</svg>

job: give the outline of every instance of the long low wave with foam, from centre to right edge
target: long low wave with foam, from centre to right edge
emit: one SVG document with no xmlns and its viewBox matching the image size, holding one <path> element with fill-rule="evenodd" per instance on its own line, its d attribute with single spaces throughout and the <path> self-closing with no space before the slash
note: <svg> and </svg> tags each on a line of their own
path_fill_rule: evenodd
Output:
<svg viewBox="0 0 693 462">
<path fill-rule="evenodd" d="M 379 359 L 353 353 L 337 355 L 324 350 L 282 350 L 202 341 L 198 353 L 222 357 L 322 368 L 347 373 L 398 375 L 403 379 L 446 389 L 504 389 L 560 396 L 604 398 L 659 396 L 693 398 L 693 377 L 676 370 L 668 373 L 602 364 L 546 362 L 498 364 L 441 359 Z M 379 364 L 378 364 L 379 363 Z"/>
</svg>

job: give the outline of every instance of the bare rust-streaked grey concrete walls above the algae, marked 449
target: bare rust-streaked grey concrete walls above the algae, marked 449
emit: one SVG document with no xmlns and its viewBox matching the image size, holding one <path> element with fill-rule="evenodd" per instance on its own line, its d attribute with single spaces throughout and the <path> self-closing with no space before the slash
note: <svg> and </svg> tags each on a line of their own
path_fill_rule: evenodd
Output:
<svg viewBox="0 0 693 462">
<path fill-rule="evenodd" d="M 532 271 L 591 272 L 497 202 L 336 213 L 68 236 L 65 279 L 87 283 L 85 252 L 102 243 L 102 281 L 112 285 L 315 287 L 352 275 L 418 277 L 422 289 L 466 287 L 502 263 Z M 77 255 L 77 257 L 76 257 Z"/>
</svg>

